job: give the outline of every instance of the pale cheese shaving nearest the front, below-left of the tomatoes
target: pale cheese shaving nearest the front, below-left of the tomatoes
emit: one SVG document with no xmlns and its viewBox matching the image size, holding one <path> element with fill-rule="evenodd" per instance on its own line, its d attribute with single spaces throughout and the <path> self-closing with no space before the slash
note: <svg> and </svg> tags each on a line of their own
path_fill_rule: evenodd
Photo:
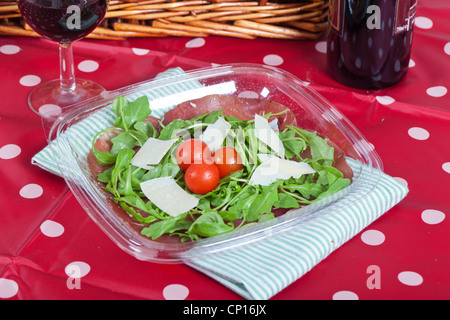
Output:
<svg viewBox="0 0 450 320">
<path fill-rule="evenodd" d="M 140 184 L 142 192 L 155 206 L 176 217 L 198 205 L 198 199 L 181 188 L 171 177 L 144 181 Z"/>
</svg>

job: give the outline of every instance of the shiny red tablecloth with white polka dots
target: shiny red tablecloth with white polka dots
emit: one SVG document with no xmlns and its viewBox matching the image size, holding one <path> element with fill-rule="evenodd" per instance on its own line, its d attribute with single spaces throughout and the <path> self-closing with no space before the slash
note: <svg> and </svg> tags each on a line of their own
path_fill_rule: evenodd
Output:
<svg viewBox="0 0 450 320">
<path fill-rule="evenodd" d="M 325 39 L 82 40 L 74 44 L 76 76 L 114 90 L 172 67 L 250 62 L 308 82 L 366 136 L 385 173 L 409 193 L 272 299 L 449 299 L 449 19 L 445 0 L 419 1 L 408 74 L 379 91 L 332 80 Z M 61 178 L 31 164 L 46 137 L 26 99 L 58 77 L 56 44 L 0 37 L 0 75 L 1 299 L 242 299 L 188 266 L 129 256 Z"/>
</svg>

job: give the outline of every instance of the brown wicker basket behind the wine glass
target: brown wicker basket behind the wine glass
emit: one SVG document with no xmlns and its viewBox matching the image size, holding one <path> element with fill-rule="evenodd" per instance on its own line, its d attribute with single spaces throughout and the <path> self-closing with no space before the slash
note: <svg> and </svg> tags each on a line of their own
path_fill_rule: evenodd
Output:
<svg viewBox="0 0 450 320">
<path fill-rule="evenodd" d="M 88 37 L 220 35 L 244 39 L 318 39 L 327 28 L 328 0 L 294 3 L 226 0 L 111 0 L 105 19 Z M 0 34 L 38 37 L 15 1 L 0 0 Z"/>
</svg>

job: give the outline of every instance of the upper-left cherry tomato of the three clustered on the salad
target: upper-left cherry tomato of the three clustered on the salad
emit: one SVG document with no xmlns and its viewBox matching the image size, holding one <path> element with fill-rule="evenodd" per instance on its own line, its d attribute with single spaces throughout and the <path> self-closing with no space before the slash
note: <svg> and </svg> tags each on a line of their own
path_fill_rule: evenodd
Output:
<svg viewBox="0 0 450 320">
<path fill-rule="evenodd" d="M 183 141 L 178 146 L 175 157 L 184 172 L 193 163 L 212 163 L 211 150 L 199 139 Z"/>
</svg>

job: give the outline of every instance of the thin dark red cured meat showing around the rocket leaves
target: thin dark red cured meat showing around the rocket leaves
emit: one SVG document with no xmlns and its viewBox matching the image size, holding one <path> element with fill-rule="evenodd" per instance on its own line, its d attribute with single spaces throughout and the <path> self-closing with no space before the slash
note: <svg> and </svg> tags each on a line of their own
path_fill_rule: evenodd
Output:
<svg viewBox="0 0 450 320">
<path fill-rule="evenodd" d="M 226 95 L 211 95 L 200 99 L 183 102 L 174 109 L 168 111 L 161 122 L 163 125 L 167 125 L 175 119 L 189 120 L 195 116 L 211 113 L 217 110 L 222 110 L 223 111 L 222 114 L 224 116 L 232 116 L 239 118 L 241 120 L 254 119 L 255 114 L 262 115 L 267 114 L 269 112 L 273 114 L 281 113 L 269 119 L 269 121 L 273 120 L 274 118 L 278 120 L 277 122 L 279 130 L 283 130 L 286 125 L 297 126 L 297 121 L 293 112 L 279 103 L 263 99 L 238 98 Z M 144 121 L 151 121 L 153 126 L 158 131 L 160 131 L 161 129 L 161 126 L 159 124 L 160 119 L 149 116 Z M 116 135 L 118 135 L 119 133 L 120 130 L 118 129 L 111 129 L 105 131 L 105 133 L 103 133 L 100 136 L 100 138 L 97 139 L 97 141 L 95 142 L 95 147 L 99 151 L 110 151 L 112 147 L 111 139 Z M 335 143 L 329 141 L 328 139 L 327 143 L 334 148 L 334 162 L 332 165 L 343 173 L 344 178 L 348 178 L 351 180 L 353 178 L 353 172 L 349 167 L 349 165 L 347 164 L 344 151 L 340 149 Z M 306 149 L 301 156 L 303 158 L 310 158 L 311 154 L 309 148 Z M 111 166 L 100 165 L 97 162 L 92 150 L 88 154 L 87 161 L 91 173 L 91 178 L 100 188 L 103 187 L 104 185 L 101 182 L 98 182 L 97 176 L 99 173 L 105 171 Z M 120 217 L 123 223 L 129 226 L 131 229 L 135 230 L 136 233 L 140 235 L 140 231 L 145 227 L 145 225 L 134 220 L 133 217 L 130 214 L 128 214 L 125 210 L 123 210 L 119 204 L 115 203 L 113 196 L 111 194 L 109 194 L 102 188 L 101 190 L 107 197 L 108 204 L 114 210 L 114 212 Z M 141 211 L 139 209 L 137 209 L 136 211 L 138 211 L 143 217 L 148 216 L 148 214 L 144 211 Z M 287 209 L 274 209 L 273 213 L 275 214 L 275 216 L 279 216 L 281 214 L 284 214 L 286 211 Z M 239 223 L 240 221 L 234 222 L 235 225 Z M 177 237 L 170 237 L 169 235 L 162 235 L 161 237 L 156 239 L 156 241 L 179 242 L 179 239 Z"/>
</svg>

